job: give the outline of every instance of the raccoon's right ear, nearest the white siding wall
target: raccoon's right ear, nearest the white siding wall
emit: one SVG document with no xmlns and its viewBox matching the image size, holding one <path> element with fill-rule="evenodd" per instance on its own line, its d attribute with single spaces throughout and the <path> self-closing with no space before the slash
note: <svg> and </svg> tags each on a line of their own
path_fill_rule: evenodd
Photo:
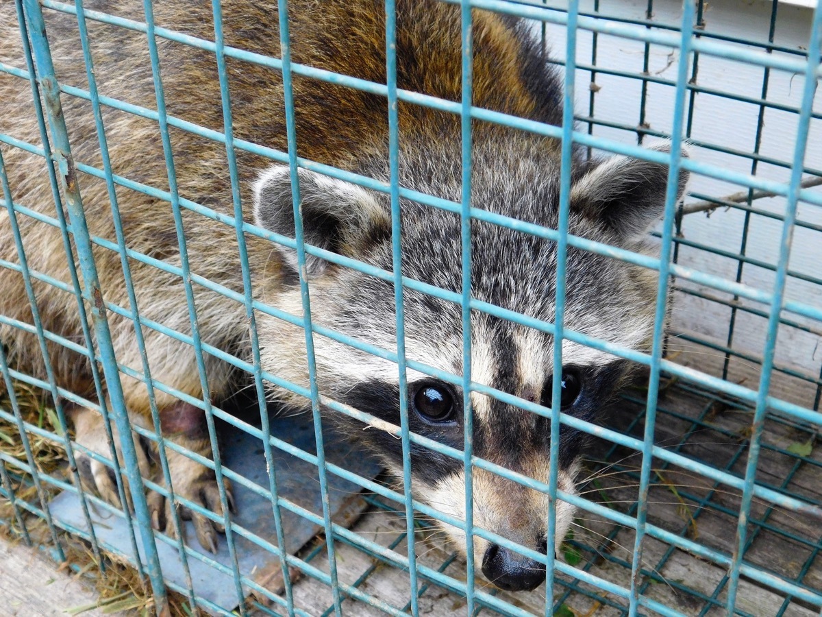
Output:
<svg viewBox="0 0 822 617">
<path fill-rule="evenodd" d="M 671 153 L 663 142 L 649 150 Z M 682 150 L 682 158 L 688 152 Z M 649 160 L 613 156 L 591 169 L 570 191 L 571 207 L 603 221 L 627 241 L 641 239 L 662 218 L 668 166 Z M 677 201 L 685 193 L 688 172 L 681 169 Z"/>
</svg>

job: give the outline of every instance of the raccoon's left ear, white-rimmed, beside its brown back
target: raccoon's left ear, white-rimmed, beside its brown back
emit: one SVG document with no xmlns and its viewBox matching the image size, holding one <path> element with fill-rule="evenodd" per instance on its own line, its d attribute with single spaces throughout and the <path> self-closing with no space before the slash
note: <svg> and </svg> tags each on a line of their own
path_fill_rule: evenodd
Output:
<svg viewBox="0 0 822 617">
<path fill-rule="evenodd" d="M 377 237 L 375 230 L 386 225 L 386 213 L 364 188 L 307 169 L 299 169 L 298 175 L 302 234 L 306 244 L 357 257 L 359 251 Z M 275 165 L 257 179 L 254 220 L 266 230 L 294 238 L 291 174 L 287 165 Z M 387 224 L 390 233 L 390 221 Z M 280 252 L 297 270 L 297 251 L 280 247 Z M 306 253 L 308 276 L 320 275 L 328 263 Z"/>
</svg>

